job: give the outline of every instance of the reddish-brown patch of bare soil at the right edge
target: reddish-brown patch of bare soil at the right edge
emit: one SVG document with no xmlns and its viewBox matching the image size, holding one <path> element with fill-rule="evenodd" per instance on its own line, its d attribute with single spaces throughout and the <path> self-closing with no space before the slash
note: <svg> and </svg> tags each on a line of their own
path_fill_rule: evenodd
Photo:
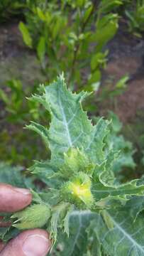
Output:
<svg viewBox="0 0 144 256">
<path fill-rule="evenodd" d="M 123 75 L 129 74 L 132 77 L 128 82 L 126 91 L 117 98 L 117 104 L 114 105 L 114 109 L 112 107 L 112 110 L 118 114 L 124 123 L 133 122 L 137 112 L 144 110 L 144 72 L 136 71 L 135 73 L 135 70 L 140 69 L 140 62 L 140 58 L 126 57 L 123 60 L 111 61 L 106 69 L 106 76 L 114 75 L 114 84 Z"/>
</svg>

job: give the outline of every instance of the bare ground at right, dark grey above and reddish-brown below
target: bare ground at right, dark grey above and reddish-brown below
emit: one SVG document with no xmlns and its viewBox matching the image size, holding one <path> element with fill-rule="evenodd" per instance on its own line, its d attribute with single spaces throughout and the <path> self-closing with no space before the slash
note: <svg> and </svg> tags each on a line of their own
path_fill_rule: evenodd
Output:
<svg viewBox="0 0 144 256">
<path fill-rule="evenodd" d="M 109 63 L 103 74 L 103 86 L 106 80 L 113 78 L 113 85 L 123 76 L 129 75 L 130 80 L 123 95 L 118 96 L 116 104 L 109 101 L 101 106 L 101 114 L 111 109 L 123 123 L 131 123 L 138 112 L 144 110 L 144 41 L 131 38 L 120 29 L 113 41 L 109 43 Z"/>
</svg>

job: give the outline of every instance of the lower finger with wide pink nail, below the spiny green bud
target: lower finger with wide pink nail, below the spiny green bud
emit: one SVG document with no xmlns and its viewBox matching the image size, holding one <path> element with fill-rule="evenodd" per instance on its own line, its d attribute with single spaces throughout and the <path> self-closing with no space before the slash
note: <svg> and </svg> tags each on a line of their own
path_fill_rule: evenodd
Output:
<svg viewBox="0 0 144 256">
<path fill-rule="evenodd" d="M 0 256 L 45 256 L 50 247 L 49 235 L 45 230 L 27 230 L 11 240 Z"/>
</svg>

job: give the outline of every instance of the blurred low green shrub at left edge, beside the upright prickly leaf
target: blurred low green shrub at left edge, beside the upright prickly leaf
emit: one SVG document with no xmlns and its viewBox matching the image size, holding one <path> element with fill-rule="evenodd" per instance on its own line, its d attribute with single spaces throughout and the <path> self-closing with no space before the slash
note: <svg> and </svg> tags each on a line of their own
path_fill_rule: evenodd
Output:
<svg viewBox="0 0 144 256">
<path fill-rule="evenodd" d="M 29 119 L 43 123 L 45 119 L 49 119 L 49 115 L 38 107 L 38 103 L 26 99 L 37 91 L 36 88 L 36 83 L 31 87 L 26 87 L 20 80 L 13 79 L 6 81 L 6 85 L 0 89 L 0 99 L 4 105 L 1 112 L 0 131 L 2 161 L 28 166 L 33 155 L 35 159 L 40 155 L 46 157 L 45 151 L 38 151 L 35 147 L 36 144 L 40 145 L 40 139 L 36 134 L 23 130 L 24 124 Z"/>
</svg>

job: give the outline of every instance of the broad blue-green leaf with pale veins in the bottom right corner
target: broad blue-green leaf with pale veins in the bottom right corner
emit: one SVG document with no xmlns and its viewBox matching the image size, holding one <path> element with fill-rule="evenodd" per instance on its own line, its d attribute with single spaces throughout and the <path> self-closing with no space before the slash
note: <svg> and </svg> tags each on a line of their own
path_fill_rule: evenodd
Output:
<svg viewBox="0 0 144 256">
<path fill-rule="evenodd" d="M 111 256 L 144 255 L 143 215 L 133 223 L 128 210 L 108 211 L 106 214 L 111 226 L 100 215 L 91 224 L 104 251 Z"/>
</svg>

